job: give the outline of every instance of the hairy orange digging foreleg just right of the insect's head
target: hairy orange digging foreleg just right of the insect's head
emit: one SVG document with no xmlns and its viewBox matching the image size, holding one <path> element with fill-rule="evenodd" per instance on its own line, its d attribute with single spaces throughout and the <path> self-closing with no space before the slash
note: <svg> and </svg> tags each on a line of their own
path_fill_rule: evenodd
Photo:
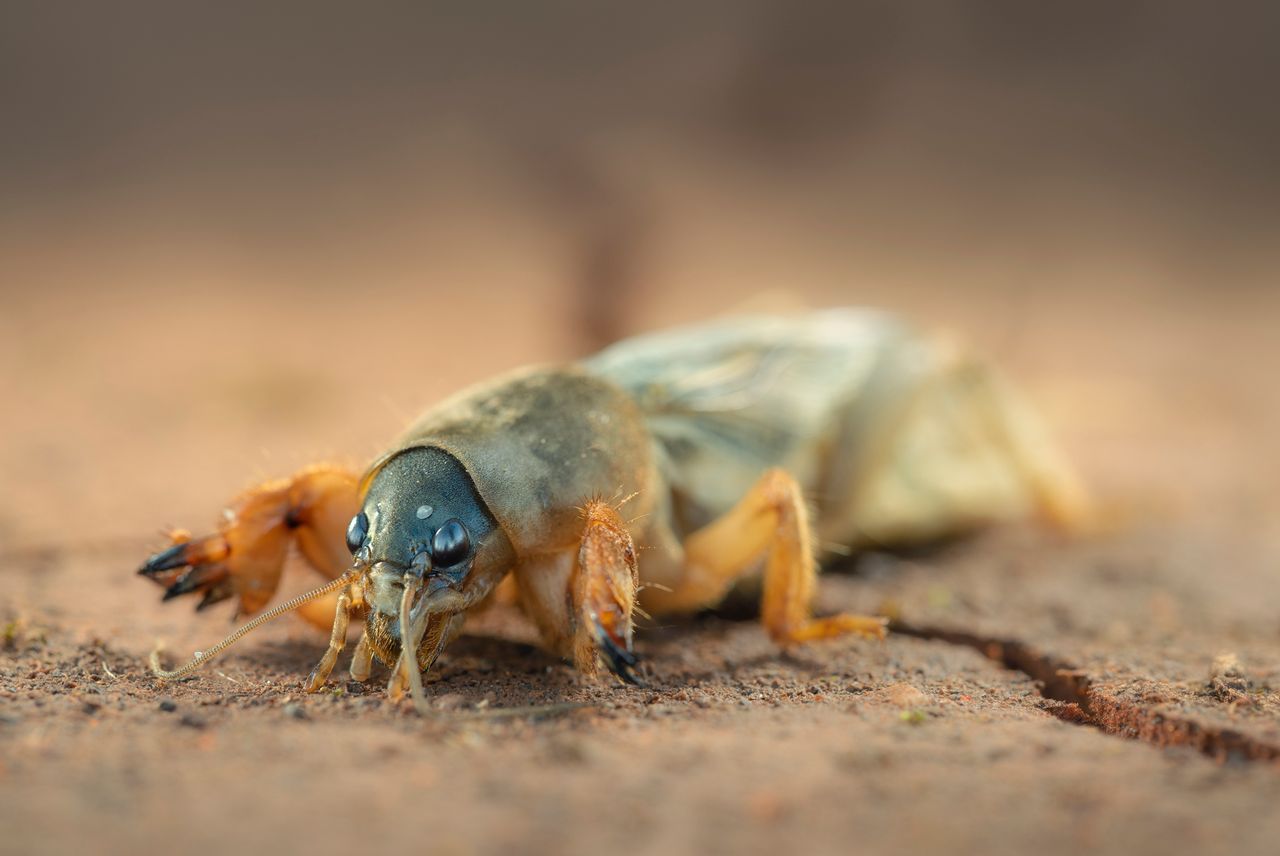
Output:
<svg viewBox="0 0 1280 856">
<path fill-rule="evenodd" d="M 639 683 L 631 649 L 637 589 L 631 535 L 608 503 L 589 502 L 582 518 L 573 548 L 516 568 L 521 606 L 547 646 L 572 658 L 579 670 L 596 674 L 603 659 L 621 679 Z"/>
</svg>

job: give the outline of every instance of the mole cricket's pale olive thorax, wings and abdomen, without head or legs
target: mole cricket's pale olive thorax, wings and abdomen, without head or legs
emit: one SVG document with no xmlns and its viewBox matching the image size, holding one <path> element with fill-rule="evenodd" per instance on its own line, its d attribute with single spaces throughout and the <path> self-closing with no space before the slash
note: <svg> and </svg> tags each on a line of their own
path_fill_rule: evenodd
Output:
<svg viewBox="0 0 1280 856">
<path fill-rule="evenodd" d="M 824 544 L 915 541 L 1027 513 L 1025 426 L 1009 424 L 993 383 L 878 312 L 727 320 L 470 388 L 413 422 L 365 484 L 404 449 L 444 449 L 517 562 L 571 546 L 588 500 L 630 498 L 641 577 L 671 585 L 684 539 L 769 467 L 799 481 Z"/>
</svg>

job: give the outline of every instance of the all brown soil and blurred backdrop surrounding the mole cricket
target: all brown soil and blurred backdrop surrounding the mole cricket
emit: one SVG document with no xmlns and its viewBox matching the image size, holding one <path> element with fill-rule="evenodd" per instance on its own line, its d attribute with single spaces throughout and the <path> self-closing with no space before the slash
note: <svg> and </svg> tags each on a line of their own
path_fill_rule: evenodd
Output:
<svg viewBox="0 0 1280 856">
<path fill-rule="evenodd" d="M 1261 1 L 0 0 L 0 851 L 1274 850 L 1277 81 Z M 148 673 L 230 621 L 133 576 L 161 526 L 797 305 L 991 354 L 1115 523 L 822 581 L 977 650 L 646 623 L 640 691 L 467 636 L 425 718 L 302 695 L 301 622 Z"/>
</svg>

